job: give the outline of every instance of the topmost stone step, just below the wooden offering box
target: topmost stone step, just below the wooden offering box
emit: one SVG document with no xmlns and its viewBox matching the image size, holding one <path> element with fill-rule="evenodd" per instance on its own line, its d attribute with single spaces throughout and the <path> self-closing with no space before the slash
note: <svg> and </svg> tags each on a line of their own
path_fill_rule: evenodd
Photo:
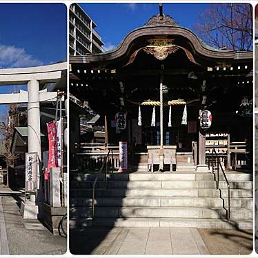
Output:
<svg viewBox="0 0 258 258">
<path fill-rule="evenodd" d="M 98 173 L 70 173 L 70 181 L 94 181 Z M 101 175 L 100 180 L 104 178 Z M 209 172 L 132 172 L 108 174 L 111 181 L 212 181 L 215 176 Z"/>
</svg>

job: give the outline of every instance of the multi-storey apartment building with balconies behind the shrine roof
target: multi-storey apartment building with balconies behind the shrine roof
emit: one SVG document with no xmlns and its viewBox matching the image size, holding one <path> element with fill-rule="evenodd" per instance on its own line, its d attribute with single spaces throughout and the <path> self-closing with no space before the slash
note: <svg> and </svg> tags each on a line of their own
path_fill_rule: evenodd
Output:
<svg viewBox="0 0 258 258">
<path fill-rule="evenodd" d="M 95 30 L 97 24 L 90 19 L 81 6 L 73 3 L 69 14 L 70 56 L 104 52 L 103 41 Z"/>
</svg>

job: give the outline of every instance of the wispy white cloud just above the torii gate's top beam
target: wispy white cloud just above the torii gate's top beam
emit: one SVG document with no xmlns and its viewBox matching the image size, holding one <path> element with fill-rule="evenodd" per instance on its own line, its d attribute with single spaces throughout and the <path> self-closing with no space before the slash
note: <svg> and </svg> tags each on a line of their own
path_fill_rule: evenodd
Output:
<svg viewBox="0 0 258 258">
<path fill-rule="evenodd" d="M 43 62 L 27 54 L 24 48 L 0 44 L 0 68 L 42 66 Z"/>
</svg>

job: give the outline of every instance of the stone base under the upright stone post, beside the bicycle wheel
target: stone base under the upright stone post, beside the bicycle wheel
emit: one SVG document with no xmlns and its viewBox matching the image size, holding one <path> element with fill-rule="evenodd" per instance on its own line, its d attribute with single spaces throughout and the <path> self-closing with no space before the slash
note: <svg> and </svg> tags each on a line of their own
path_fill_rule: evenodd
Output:
<svg viewBox="0 0 258 258">
<path fill-rule="evenodd" d="M 43 212 L 43 224 L 52 232 L 53 235 L 59 235 L 59 223 L 64 215 L 67 214 L 67 207 L 51 207 L 49 204 L 41 205 Z"/>
</svg>

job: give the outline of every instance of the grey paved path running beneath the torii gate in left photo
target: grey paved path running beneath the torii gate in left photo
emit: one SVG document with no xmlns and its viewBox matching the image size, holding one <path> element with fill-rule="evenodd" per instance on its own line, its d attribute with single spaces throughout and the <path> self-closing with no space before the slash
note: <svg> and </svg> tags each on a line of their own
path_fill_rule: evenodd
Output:
<svg viewBox="0 0 258 258">
<path fill-rule="evenodd" d="M 67 239 L 52 235 L 37 220 L 23 220 L 17 205 L 19 197 L 4 195 L 4 190 L 8 189 L 0 189 L 0 255 L 65 253 Z"/>
</svg>

